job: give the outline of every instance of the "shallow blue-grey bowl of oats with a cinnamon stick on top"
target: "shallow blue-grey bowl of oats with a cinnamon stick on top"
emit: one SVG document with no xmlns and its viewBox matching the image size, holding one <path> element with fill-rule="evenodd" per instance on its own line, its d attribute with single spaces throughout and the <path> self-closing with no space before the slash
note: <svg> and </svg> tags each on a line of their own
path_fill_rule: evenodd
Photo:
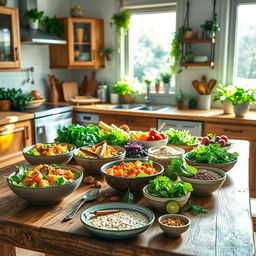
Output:
<svg viewBox="0 0 256 256">
<path fill-rule="evenodd" d="M 81 214 L 84 226 L 97 236 L 126 239 L 146 231 L 154 222 L 148 208 L 129 203 L 94 205 Z"/>
</svg>

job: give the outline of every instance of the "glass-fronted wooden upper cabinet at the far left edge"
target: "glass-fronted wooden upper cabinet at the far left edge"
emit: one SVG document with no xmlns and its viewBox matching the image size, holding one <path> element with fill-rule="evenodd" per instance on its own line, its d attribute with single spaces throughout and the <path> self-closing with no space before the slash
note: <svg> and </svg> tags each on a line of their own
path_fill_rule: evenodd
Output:
<svg viewBox="0 0 256 256">
<path fill-rule="evenodd" d="M 20 68 L 18 10 L 0 6 L 0 71 Z"/>
</svg>

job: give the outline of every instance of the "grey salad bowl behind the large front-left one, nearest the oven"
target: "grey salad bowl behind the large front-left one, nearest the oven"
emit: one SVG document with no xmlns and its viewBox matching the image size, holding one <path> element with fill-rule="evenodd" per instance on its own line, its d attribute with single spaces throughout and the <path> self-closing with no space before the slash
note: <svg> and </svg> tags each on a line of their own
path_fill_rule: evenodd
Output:
<svg viewBox="0 0 256 256">
<path fill-rule="evenodd" d="M 68 143 L 47 143 L 47 145 L 62 145 L 68 147 L 68 152 L 58 155 L 34 155 L 33 150 L 36 145 L 27 146 L 22 150 L 24 158 L 32 165 L 36 164 L 67 164 L 73 157 L 76 146 Z M 42 144 L 46 145 L 46 144 Z"/>
</svg>

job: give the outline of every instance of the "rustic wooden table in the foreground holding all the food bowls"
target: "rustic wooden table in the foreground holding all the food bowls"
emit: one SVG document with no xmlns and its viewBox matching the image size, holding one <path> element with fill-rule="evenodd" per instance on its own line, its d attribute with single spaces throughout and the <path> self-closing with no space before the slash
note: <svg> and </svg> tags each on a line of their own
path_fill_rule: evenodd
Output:
<svg viewBox="0 0 256 256">
<path fill-rule="evenodd" d="M 248 143 L 246 145 L 248 147 Z M 248 191 L 248 151 L 240 153 L 237 165 L 228 172 L 228 178 L 219 191 L 209 197 L 192 198 L 209 212 L 198 216 L 186 213 L 191 218 L 191 227 L 179 238 L 170 238 L 161 231 L 157 223 L 159 213 L 156 213 L 153 226 L 136 238 L 99 238 L 87 231 L 80 222 L 81 212 L 98 204 L 97 201 L 85 205 L 73 220 L 62 222 L 89 189 L 88 185 L 80 186 L 58 205 L 33 206 L 17 198 L 8 188 L 3 176 L 14 168 L 4 168 L 0 180 L 0 255 L 15 255 L 14 246 L 17 246 L 59 256 L 251 256 L 254 254 L 254 244 Z M 104 183 L 102 192 L 105 190 L 111 196 L 120 196 Z M 148 206 L 141 198 L 137 203 Z"/>
</svg>

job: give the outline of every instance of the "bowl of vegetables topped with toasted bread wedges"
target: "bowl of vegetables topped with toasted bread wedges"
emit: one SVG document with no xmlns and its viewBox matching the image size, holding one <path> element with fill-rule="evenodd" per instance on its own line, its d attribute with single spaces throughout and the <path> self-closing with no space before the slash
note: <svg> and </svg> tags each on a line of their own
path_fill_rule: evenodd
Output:
<svg viewBox="0 0 256 256">
<path fill-rule="evenodd" d="M 90 147 L 81 147 L 74 151 L 75 161 L 81 165 L 86 174 L 100 174 L 102 165 L 114 160 L 123 160 L 125 149 L 119 146 L 109 146 L 105 141 Z"/>
</svg>

